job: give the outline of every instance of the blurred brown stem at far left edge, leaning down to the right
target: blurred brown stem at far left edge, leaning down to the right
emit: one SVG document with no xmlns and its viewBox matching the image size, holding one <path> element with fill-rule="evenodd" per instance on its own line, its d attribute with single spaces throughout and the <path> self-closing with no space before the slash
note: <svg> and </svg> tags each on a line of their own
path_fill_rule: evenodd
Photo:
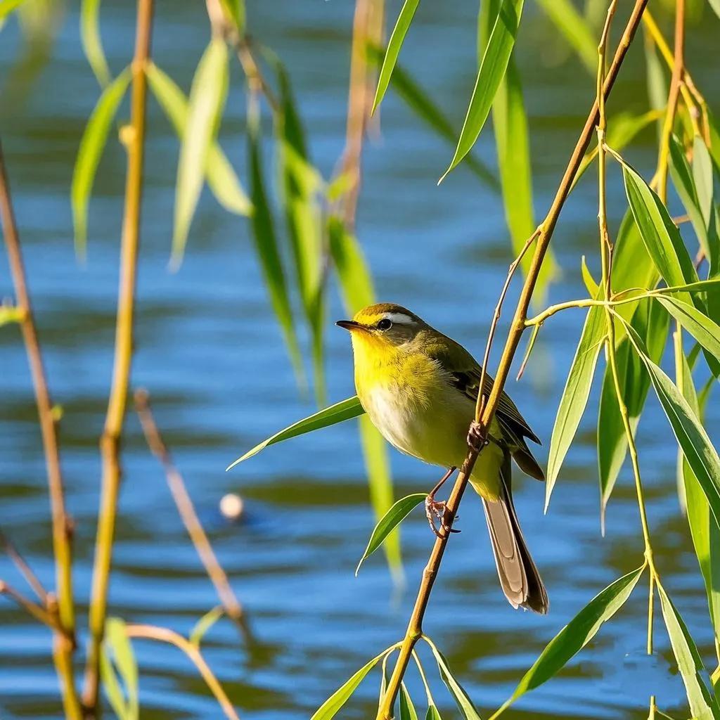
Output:
<svg viewBox="0 0 720 720">
<path fill-rule="evenodd" d="M 32 384 L 35 388 L 35 405 L 40 420 L 42 449 L 45 452 L 45 468 L 48 472 L 50 513 L 53 524 L 53 554 L 55 555 L 55 583 L 58 590 L 58 618 L 62 632 L 55 638 L 55 665 L 63 688 L 63 704 L 66 716 L 81 717 L 81 708 L 72 672 L 75 647 L 75 606 L 73 602 L 73 547 L 72 523 L 65 508 L 63 474 L 60 470 L 58 433 L 53 419 L 53 403 L 50 400 L 48 381 L 42 365 L 40 341 L 37 338 L 35 319 L 32 315 L 30 292 L 27 289 L 25 269 L 20 250 L 20 238 L 12 208 L 10 186 L 5 159 L 0 143 L 0 217 L 7 248 L 10 274 L 15 289 L 16 305 L 20 313 L 20 329 L 30 365 Z"/>
</svg>

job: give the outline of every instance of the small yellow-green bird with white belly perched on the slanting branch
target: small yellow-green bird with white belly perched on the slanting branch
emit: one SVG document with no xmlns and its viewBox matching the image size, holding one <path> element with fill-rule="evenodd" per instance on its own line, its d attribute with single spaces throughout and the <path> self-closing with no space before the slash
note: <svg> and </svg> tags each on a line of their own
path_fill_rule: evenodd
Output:
<svg viewBox="0 0 720 720">
<path fill-rule="evenodd" d="M 451 470 L 461 465 L 467 444 L 474 444 L 466 436 L 474 420 L 480 364 L 400 305 L 370 305 L 336 324 L 351 333 L 357 394 L 382 436 L 424 462 Z M 486 375 L 483 392 L 491 387 Z M 540 441 L 504 392 L 487 438 L 469 482 L 482 498 L 500 585 L 513 608 L 544 614 L 547 593 L 523 539 L 510 483 L 511 457 L 523 472 L 544 480 L 525 438 Z M 444 510 L 444 503 L 434 502 L 434 492 L 428 507 L 441 517 L 437 508 Z"/>
</svg>

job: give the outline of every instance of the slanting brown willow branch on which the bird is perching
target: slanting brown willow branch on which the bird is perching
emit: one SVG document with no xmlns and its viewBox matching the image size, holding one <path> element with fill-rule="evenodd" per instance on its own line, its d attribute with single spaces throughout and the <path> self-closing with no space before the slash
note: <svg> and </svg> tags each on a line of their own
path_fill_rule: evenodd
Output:
<svg viewBox="0 0 720 720">
<path fill-rule="evenodd" d="M 642 14 L 646 5 L 647 0 L 635 1 L 634 8 L 626 24 L 620 42 L 618 43 L 618 47 L 613 57 L 613 62 L 606 76 L 605 84 L 603 86 L 604 98 L 607 98 L 610 94 L 610 91 L 616 80 L 618 71 L 620 70 L 627 50 L 630 47 L 635 32 L 640 24 Z M 488 397 L 487 401 L 482 404 L 482 414 L 480 418 L 476 418 L 477 420 L 479 420 L 480 425 L 483 428 L 487 428 L 490 425 L 490 420 L 492 420 L 492 416 L 495 413 L 495 408 L 497 408 L 498 402 L 500 401 L 500 395 L 503 392 L 503 388 L 505 387 L 505 381 L 508 379 L 508 375 L 510 374 L 510 366 L 513 363 L 513 358 L 515 357 L 518 343 L 520 342 L 520 338 L 525 328 L 525 320 L 528 312 L 528 307 L 530 305 L 531 297 L 540 272 L 542 261 L 545 257 L 545 253 L 549 246 L 550 239 L 552 238 L 552 233 L 555 225 L 557 224 L 560 211 L 562 210 L 564 202 L 567 199 L 568 194 L 570 193 L 570 189 L 572 187 L 572 180 L 575 178 L 575 174 L 577 174 L 578 168 L 580 168 L 580 163 L 582 162 L 582 156 L 585 155 L 585 151 L 588 149 L 590 140 L 593 138 L 593 134 L 595 132 L 595 125 L 597 124 L 597 122 L 598 101 L 596 98 L 593 107 L 590 110 L 590 114 L 588 114 L 588 120 L 585 122 L 585 127 L 583 127 L 582 132 L 580 133 L 580 138 L 577 140 L 575 150 L 573 150 L 572 152 L 570 162 L 567 164 L 567 168 L 562 177 L 562 181 L 560 182 L 554 201 L 552 202 L 552 206 L 550 207 L 550 210 L 543 222 L 541 222 L 540 233 L 536 241 L 535 252 L 531 261 L 531 265 L 528 269 L 525 283 L 523 284 L 523 289 L 521 291 L 520 299 L 518 300 L 515 316 L 512 323 L 510 324 L 510 331 L 508 333 L 507 341 L 505 341 L 503 355 L 500 358 L 498 373 L 495 376 L 495 382 L 492 385 L 490 397 Z M 472 468 L 474 467 L 476 459 L 477 451 L 475 451 L 474 449 L 470 449 L 447 503 L 447 522 L 449 523 L 449 526 L 452 526 L 455 515 L 457 513 L 457 508 L 459 507 L 460 500 L 462 499 L 462 494 L 467 485 L 467 480 L 470 476 L 470 473 L 472 472 Z M 377 720 L 390 720 L 392 718 L 392 707 L 395 704 L 395 698 L 397 697 L 398 690 L 400 690 L 400 683 L 402 681 L 402 677 L 403 675 L 405 675 L 405 670 L 408 667 L 408 662 L 410 662 L 410 657 L 412 657 L 413 647 L 415 647 L 415 643 L 418 642 L 418 638 L 422 634 L 423 616 L 425 615 L 425 611 L 428 606 L 428 600 L 430 599 L 433 583 L 435 582 L 435 578 L 440 568 L 440 563 L 445 552 L 448 537 L 449 534 L 443 531 L 443 536 L 441 538 L 438 538 L 435 541 L 435 544 L 433 544 L 433 550 L 431 552 L 430 559 L 428 560 L 428 564 L 423 571 L 423 578 L 420 582 L 420 590 L 418 591 L 418 597 L 415 600 L 415 607 L 413 608 L 413 613 L 410 616 L 408 630 L 405 633 L 405 639 L 403 639 L 402 641 L 400 653 L 397 657 L 395 669 L 392 671 L 390 682 L 387 685 L 385 696 L 379 706 Z"/>
</svg>

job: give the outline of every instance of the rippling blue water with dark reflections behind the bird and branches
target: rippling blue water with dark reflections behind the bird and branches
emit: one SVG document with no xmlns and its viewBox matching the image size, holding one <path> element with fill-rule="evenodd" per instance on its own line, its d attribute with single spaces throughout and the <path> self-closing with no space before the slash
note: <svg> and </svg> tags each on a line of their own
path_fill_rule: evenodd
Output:
<svg viewBox="0 0 720 720">
<path fill-rule="evenodd" d="M 187 88 L 208 31 L 197 4 L 158 4 L 153 54 Z M 395 17 L 397 3 L 390 8 Z M 253 33 L 279 51 L 292 71 L 312 153 L 329 174 L 343 145 L 349 2 L 251 3 Z M 131 3 L 105 2 L 102 30 L 112 68 L 130 58 Z M 702 58 L 716 26 L 692 27 L 690 67 L 701 88 L 717 88 Z M 474 6 L 423 6 L 402 60 L 422 78 L 459 127 L 472 86 Z M 98 500 L 97 438 L 110 376 L 114 288 L 124 158 L 117 146 L 102 161 L 91 204 L 89 261 L 78 267 L 72 250 L 69 181 L 85 119 L 97 96 L 81 55 L 78 10 L 68 8 L 53 62 L 27 93 L 25 104 L 3 107 L 3 141 L 14 186 L 37 320 L 55 400 L 63 405 L 63 464 L 68 505 L 77 523 L 76 587 L 86 612 L 94 516 Z M 552 29 L 528 8 L 519 62 L 531 114 L 536 206 L 549 202 L 586 108 L 593 81 L 567 57 Z M 11 22 L 1 37 L 2 79 L 19 52 Z M 243 168 L 243 97 L 233 70 L 233 92 L 222 143 Z M 613 93 L 611 112 L 646 107 L 642 53 L 631 51 Z M 717 101 L 717 94 L 711 100 Z M 127 107 L 121 115 L 127 115 Z M 232 474 L 225 465 L 259 438 L 311 406 L 298 398 L 276 323 L 266 302 L 246 222 L 203 197 L 181 270 L 168 274 L 176 140 L 153 104 L 150 109 L 147 192 L 138 288 L 136 387 L 153 395 L 158 423 L 174 449 L 199 514 L 240 598 L 252 616 L 257 644 L 243 647 L 220 621 L 205 643 L 243 717 L 310 716 L 367 658 L 395 642 L 405 626 L 415 585 L 432 536 L 418 516 L 403 534 L 408 592 L 393 595 L 380 557 L 353 570 L 372 518 L 353 423 L 267 451 Z M 629 156 L 652 168 L 652 131 Z M 490 161 L 492 138 L 478 150 Z M 410 305 L 480 354 L 490 308 L 508 264 L 508 242 L 497 197 L 459 168 L 435 181 L 449 148 L 428 135 L 392 96 L 382 108 L 382 139 L 366 153 L 359 234 L 379 295 Z M 244 176 L 241 169 L 240 174 Z M 616 168 L 611 168 L 613 226 L 624 210 Z M 554 240 L 564 276 L 552 299 L 583 292 L 580 253 L 595 257 L 595 184 L 582 182 L 567 204 Z M 0 292 L 11 294 L 4 255 Z M 593 266 L 596 265 L 594 259 Z M 332 295 L 330 318 L 341 312 Z M 549 441 L 564 374 L 582 317 L 568 312 L 546 325 L 526 379 L 511 387 L 531 423 Z M 17 330 L 0 333 L 0 524 L 50 584 L 50 531 L 45 475 L 24 351 Z M 328 330 L 328 386 L 333 400 L 352 392 L 351 358 L 344 333 Z M 548 516 L 543 488 L 518 483 L 518 510 L 552 598 L 546 618 L 514 613 L 500 593 L 487 546 L 480 504 L 462 510 L 436 586 L 426 632 L 481 708 L 498 706 L 544 644 L 595 593 L 642 562 L 634 490 L 624 471 L 600 537 L 593 395 L 579 441 L 570 452 Z M 718 418 L 709 408 L 708 425 Z M 657 559 L 667 589 L 696 634 L 708 665 L 712 637 L 696 561 L 675 497 L 675 451 L 654 401 L 640 428 L 642 465 Z M 117 528 L 112 613 L 181 632 L 217 602 L 189 546 L 150 457 L 135 416 L 127 418 L 125 482 Z M 429 487 L 436 471 L 393 455 L 397 492 Z M 246 498 L 248 521 L 229 526 L 217 502 L 228 490 Z M 19 582 L 0 558 L 0 575 Z M 657 655 L 644 655 L 647 590 L 642 585 L 616 619 L 559 678 L 518 702 L 508 717 L 572 719 L 642 718 L 647 698 L 685 716 L 682 684 L 670 662 L 665 631 L 656 627 Z M 58 717 L 48 634 L 9 603 L 0 604 L 0 714 Z M 136 642 L 143 718 L 217 718 L 202 681 L 176 649 Z M 428 670 L 431 656 L 421 649 Z M 411 673 L 410 689 L 423 697 Z M 451 716 L 449 697 L 433 684 Z M 361 686 L 343 718 L 372 714 L 377 683 Z"/>
</svg>

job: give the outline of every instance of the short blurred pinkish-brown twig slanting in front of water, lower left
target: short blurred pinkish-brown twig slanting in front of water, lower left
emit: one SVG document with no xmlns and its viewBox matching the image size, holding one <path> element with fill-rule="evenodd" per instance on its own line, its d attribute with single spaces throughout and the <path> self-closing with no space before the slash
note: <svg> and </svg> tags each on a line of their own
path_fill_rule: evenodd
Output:
<svg viewBox="0 0 720 720">
<path fill-rule="evenodd" d="M 184 523 L 187 534 L 192 540 L 192 544 L 197 550 L 197 554 L 200 556 L 208 577 L 210 577 L 212 584 L 215 585 L 215 590 L 217 590 L 220 602 L 223 608 L 225 608 L 225 613 L 238 624 L 243 635 L 247 637 L 248 626 L 243 608 L 235 596 L 235 593 L 233 593 L 233 588 L 230 587 L 230 582 L 228 582 L 228 576 L 225 575 L 225 570 L 222 570 L 220 562 L 218 562 L 215 556 L 210 540 L 207 538 L 195 512 L 192 498 L 190 498 L 187 492 L 182 475 L 175 467 L 168 448 L 163 442 L 160 431 L 158 431 L 155 418 L 153 418 L 153 411 L 150 410 L 150 402 L 146 390 L 138 390 L 135 392 L 135 410 L 138 412 L 140 424 L 143 426 L 145 440 L 148 441 L 150 451 L 158 458 L 163 469 L 165 469 L 168 486 L 170 487 L 173 500 L 175 500 L 175 505 L 178 508 L 178 513 Z"/>
</svg>

